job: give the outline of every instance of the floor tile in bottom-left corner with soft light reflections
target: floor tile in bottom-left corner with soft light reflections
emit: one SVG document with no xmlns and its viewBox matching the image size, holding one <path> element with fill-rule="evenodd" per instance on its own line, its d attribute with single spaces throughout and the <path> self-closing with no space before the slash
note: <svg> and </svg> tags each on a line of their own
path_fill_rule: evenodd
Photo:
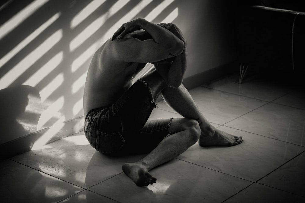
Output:
<svg viewBox="0 0 305 203">
<path fill-rule="evenodd" d="M 0 162 L 2 202 L 57 202 L 83 189 L 11 160 Z"/>
</svg>

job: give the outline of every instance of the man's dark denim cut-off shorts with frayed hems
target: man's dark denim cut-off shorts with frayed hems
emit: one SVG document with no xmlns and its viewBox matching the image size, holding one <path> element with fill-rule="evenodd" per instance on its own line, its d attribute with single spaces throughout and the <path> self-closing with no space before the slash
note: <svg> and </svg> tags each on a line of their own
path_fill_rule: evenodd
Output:
<svg viewBox="0 0 305 203">
<path fill-rule="evenodd" d="M 149 87 L 138 80 L 110 107 L 87 114 L 86 138 L 92 147 L 108 155 L 149 153 L 170 135 L 172 120 L 148 120 L 155 107 Z"/>
</svg>

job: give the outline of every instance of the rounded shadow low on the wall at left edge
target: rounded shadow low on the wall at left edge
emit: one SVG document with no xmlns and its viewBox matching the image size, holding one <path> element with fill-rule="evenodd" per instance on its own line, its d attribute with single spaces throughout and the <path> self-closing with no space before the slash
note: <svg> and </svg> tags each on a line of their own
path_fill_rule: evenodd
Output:
<svg viewBox="0 0 305 203">
<path fill-rule="evenodd" d="M 37 131 L 41 111 L 38 91 L 27 85 L 0 90 L 0 143 Z"/>
</svg>

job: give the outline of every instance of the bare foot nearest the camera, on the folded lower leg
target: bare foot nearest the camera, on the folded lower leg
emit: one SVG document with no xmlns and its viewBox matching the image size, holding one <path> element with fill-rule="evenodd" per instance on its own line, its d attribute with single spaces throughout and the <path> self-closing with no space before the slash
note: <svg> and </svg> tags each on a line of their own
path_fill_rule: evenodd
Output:
<svg viewBox="0 0 305 203">
<path fill-rule="evenodd" d="M 141 162 L 124 163 L 123 172 L 135 182 L 137 186 L 149 185 L 156 183 L 157 179 L 152 177 L 145 165 Z"/>
</svg>

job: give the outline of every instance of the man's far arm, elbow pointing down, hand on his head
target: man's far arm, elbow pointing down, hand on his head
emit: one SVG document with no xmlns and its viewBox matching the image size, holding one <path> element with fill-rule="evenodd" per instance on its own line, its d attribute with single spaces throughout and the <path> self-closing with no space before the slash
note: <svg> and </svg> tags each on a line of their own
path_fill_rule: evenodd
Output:
<svg viewBox="0 0 305 203">
<path fill-rule="evenodd" d="M 163 61 L 153 63 L 156 71 L 163 77 L 167 85 L 170 87 L 178 88 L 182 84 L 183 75 L 186 70 L 186 40 L 181 30 L 174 24 L 161 23 L 160 26 L 170 30 L 185 44 L 182 53 L 174 57 L 172 63 Z"/>
</svg>

